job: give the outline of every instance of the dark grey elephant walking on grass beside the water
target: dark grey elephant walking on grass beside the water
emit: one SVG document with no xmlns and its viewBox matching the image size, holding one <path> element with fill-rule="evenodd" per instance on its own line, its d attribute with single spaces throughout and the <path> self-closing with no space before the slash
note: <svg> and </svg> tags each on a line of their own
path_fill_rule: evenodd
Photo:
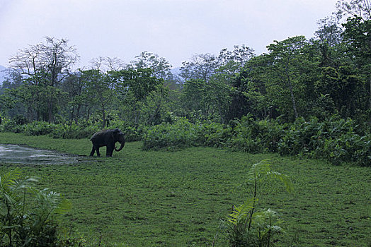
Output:
<svg viewBox="0 0 371 247">
<path fill-rule="evenodd" d="M 112 157 L 113 150 L 116 152 L 122 150 L 125 145 L 125 135 L 118 128 L 103 130 L 95 133 L 90 138 L 91 143 L 93 143 L 93 149 L 90 152 L 90 156 L 96 155 L 101 157 L 99 153 L 99 147 L 106 146 L 105 156 Z M 119 142 L 121 145 L 116 149 L 115 144 Z"/>
</svg>

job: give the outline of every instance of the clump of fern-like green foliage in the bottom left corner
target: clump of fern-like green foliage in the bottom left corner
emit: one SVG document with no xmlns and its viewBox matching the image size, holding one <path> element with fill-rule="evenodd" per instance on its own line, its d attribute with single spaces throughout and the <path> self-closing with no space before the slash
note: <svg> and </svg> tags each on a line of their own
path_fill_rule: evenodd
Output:
<svg viewBox="0 0 371 247">
<path fill-rule="evenodd" d="M 17 170 L 1 174 L 1 246 L 57 246 L 56 217 L 71 204 L 50 189 L 36 189 L 36 181 Z"/>
</svg>

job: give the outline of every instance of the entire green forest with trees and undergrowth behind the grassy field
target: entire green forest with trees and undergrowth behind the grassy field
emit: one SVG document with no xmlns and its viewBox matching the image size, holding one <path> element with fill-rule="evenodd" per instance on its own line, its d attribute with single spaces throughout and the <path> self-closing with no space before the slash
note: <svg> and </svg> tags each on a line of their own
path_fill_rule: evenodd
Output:
<svg viewBox="0 0 371 247">
<path fill-rule="evenodd" d="M 195 54 L 179 73 L 151 52 L 75 69 L 74 46 L 46 37 L 9 58 L 0 130 L 88 138 L 122 128 L 144 149 L 234 147 L 370 166 L 370 6 L 337 8 L 312 38 L 275 41 L 260 55 L 244 44 Z"/>
</svg>

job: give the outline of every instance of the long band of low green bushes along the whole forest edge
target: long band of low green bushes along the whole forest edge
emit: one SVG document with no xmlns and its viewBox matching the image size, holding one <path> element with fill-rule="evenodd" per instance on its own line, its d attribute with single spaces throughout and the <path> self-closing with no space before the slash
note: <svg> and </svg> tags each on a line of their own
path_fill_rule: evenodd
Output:
<svg viewBox="0 0 371 247">
<path fill-rule="evenodd" d="M 33 121 L 18 125 L 22 119 L 6 119 L 0 131 L 26 135 L 50 135 L 52 138 L 90 138 L 101 130 L 98 123 L 90 125 L 54 124 Z M 233 127 L 232 127 L 233 126 Z M 113 119 L 109 128 L 120 128 L 125 139 L 143 141 L 144 150 L 176 150 L 184 147 L 232 147 L 245 152 L 278 152 L 280 155 L 299 155 L 327 159 L 332 164 L 352 162 L 371 167 L 371 133 L 352 119 L 331 116 L 324 121 L 312 117 L 298 118 L 294 123 L 279 120 L 255 121 L 250 115 L 234 120 L 230 125 L 211 121 L 190 123 L 186 118 L 156 126 L 130 126 L 126 121 Z"/>
</svg>

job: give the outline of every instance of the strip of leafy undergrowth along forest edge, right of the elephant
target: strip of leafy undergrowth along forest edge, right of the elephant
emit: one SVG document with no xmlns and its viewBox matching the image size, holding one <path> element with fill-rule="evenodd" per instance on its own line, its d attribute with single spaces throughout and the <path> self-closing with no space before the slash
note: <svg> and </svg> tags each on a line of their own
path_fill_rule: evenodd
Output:
<svg viewBox="0 0 371 247">
<path fill-rule="evenodd" d="M 315 117 L 308 121 L 298 118 L 294 123 L 282 124 L 279 120 L 255 121 L 248 115 L 227 126 L 178 119 L 174 123 L 147 128 L 143 148 L 233 147 L 251 153 L 278 152 L 280 155 L 327 159 L 332 164 L 351 162 L 370 167 L 371 134 L 363 132 L 351 119 L 338 116 L 324 121 Z"/>
</svg>

